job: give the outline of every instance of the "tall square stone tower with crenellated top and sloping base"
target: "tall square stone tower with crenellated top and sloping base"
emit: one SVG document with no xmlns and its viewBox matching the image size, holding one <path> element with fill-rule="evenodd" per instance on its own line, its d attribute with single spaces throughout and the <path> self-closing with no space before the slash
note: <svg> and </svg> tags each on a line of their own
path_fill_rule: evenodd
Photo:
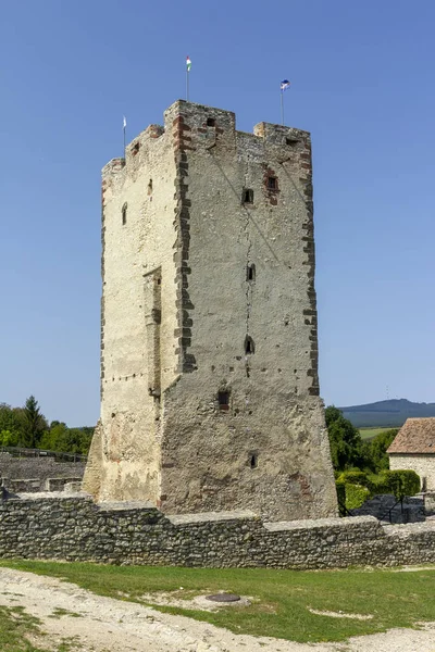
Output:
<svg viewBox="0 0 435 652">
<path fill-rule="evenodd" d="M 307 131 L 177 101 L 102 171 L 101 418 L 84 488 L 336 515 Z"/>
</svg>

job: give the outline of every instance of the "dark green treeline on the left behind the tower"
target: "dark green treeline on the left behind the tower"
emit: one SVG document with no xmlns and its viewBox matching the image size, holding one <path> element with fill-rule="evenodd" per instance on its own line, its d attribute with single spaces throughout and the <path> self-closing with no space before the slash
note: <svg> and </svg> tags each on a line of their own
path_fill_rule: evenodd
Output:
<svg viewBox="0 0 435 652">
<path fill-rule="evenodd" d="M 30 396 L 23 408 L 0 403 L 0 447 L 45 449 L 86 455 L 94 428 L 69 428 L 65 423 L 50 424 Z"/>
</svg>

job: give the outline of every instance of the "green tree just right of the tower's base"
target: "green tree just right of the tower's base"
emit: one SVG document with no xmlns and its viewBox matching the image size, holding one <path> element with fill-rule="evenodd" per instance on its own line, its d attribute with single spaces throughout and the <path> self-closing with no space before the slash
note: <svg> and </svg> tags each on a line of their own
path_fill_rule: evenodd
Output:
<svg viewBox="0 0 435 652">
<path fill-rule="evenodd" d="M 334 405 L 326 408 L 325 417 L 334 469 L 364 467 L 365 459 L 359 430 Z"/>
</svg>

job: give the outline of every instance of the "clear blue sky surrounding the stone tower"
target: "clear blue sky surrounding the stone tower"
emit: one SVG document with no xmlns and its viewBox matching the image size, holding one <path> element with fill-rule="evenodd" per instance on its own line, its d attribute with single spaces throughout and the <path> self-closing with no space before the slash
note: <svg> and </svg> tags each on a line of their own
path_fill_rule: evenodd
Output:
<svg viewBox="0 0 435 652">
<path fill-rule="evenodd" d="M 100 170 L 184 97 L 312 133 L 326 403 L 435 401 L 435 3 L 1 2 L 0 402 L 99 414 Z"/>
</svg>

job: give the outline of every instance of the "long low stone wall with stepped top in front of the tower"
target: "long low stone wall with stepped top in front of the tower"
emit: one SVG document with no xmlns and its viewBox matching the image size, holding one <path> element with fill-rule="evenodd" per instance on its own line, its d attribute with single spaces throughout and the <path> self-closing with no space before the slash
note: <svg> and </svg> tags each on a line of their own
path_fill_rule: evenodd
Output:
<svg viewBox="0 0 435 652">
<path fill-rule="evenodd" d="M 263 523 L 251 512 L 164 516 L 83 494 L 0 502 L 0 556 L 204 567 L 345 568 L 435 562 L 435 523 L 372 516 Z"/>
</svg>

